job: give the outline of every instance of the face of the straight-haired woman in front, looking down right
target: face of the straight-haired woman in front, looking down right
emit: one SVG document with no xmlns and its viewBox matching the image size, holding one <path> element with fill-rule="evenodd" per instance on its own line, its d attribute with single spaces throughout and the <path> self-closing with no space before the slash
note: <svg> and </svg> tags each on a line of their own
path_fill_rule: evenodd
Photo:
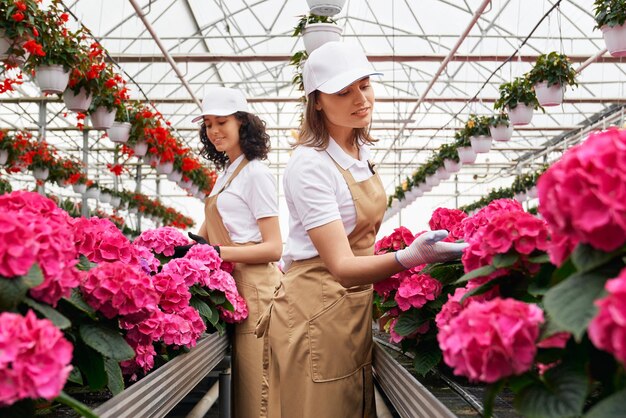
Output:
<svg viewBox="0 0 626 418">
<path fill-rule="evenodd" d="M 337 93 L 319 93 L 317 110 L 324 111 L 328 122 L 345 128 L 366 128 L 372 122 L 374 90 L 370 78 L 355 81 Z"/>
</svg>

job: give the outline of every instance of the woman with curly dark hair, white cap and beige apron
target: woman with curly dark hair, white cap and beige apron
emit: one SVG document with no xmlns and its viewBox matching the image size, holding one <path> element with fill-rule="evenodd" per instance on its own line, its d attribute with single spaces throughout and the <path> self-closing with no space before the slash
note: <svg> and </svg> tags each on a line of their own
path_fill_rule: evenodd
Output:
<svg viewBox="0 0 626 418">
<path fill-rule="evenodd" d="M 199 235 L 217 246 L 248 305 L 248 318 L 233 338 L 233 416 L 257 417 L 261 408 L 263 340 L 254 335 L 259 315 L 272 298 L 282 253 L 276 181 L 261 160 L 269 152 L 265 123 L 249 113 L 236 89 L 211 89 L 202 101 L 201 153 L 221 171 L 205 201 Z"/>
</svg>

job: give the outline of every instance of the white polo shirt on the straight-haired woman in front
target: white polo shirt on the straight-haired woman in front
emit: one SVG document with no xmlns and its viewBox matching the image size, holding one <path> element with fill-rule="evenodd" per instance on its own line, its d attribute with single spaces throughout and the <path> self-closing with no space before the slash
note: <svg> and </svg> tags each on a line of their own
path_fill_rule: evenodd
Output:
<svg viewBox="0 0 626 418">
<path fill-rule="evenodd" d="M 341 220 L 346 235 L 354 230 L 356 209 L 352 195 L 333 159 L 349 170 L 356 181 L 363 181 L 373 176 L 367 164 L 369 157 L 367 146 L 360 146 L 357 160 L 332 138 L 326 150 L 307 146 L 294 150 L 283 179 L 289 208 L 289 236 L 283 254 L 286 267 L 294 260 L 318 255 L 307 233 L 309 229 Z"/>
</svg>

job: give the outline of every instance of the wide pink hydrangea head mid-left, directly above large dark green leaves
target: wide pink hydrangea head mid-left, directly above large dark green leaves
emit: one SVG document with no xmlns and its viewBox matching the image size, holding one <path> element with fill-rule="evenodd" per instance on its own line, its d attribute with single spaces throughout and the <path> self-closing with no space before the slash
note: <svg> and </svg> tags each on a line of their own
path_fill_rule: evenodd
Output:
<svg viewBox="0 0 626 418">
<path fill-rule="evenodd" d="M 107 318 L 120 315 L 138 322 L 148 317 L 159 302 L 150 276 L 120 261 L 100 263 L 89 270 L 80 288 L 85 301 Z"/>
</svg>

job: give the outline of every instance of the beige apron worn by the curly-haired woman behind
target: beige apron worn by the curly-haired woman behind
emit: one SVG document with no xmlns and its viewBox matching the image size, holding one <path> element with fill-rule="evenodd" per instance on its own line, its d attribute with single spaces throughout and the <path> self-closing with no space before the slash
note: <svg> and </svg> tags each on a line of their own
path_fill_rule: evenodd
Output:
<svg viewBox="0 0 626 418">
<path fill-rule="evenodd" d="M 248 164 L 244 159 L 224 187 L 206 199 L 204 212 L 206 232 L 211 245 L 242 246 L 254 243 L 237 244 L 231 241 L 228 230 L 217 209 L 217 196 L 226 189 L 233 179 Z M 235 263 L 233 277 L 239 294 L 248 305 L 248 318 L 235 326 L 232 353 L 232 399 L 234 418 L 257 418 L 261 408 L 261 388 L 263 387 L 263 341 L 256 338 L 254 328 L 259 316 L 274 293 L 282 274 L 272 263 Z"/>
</svg>

